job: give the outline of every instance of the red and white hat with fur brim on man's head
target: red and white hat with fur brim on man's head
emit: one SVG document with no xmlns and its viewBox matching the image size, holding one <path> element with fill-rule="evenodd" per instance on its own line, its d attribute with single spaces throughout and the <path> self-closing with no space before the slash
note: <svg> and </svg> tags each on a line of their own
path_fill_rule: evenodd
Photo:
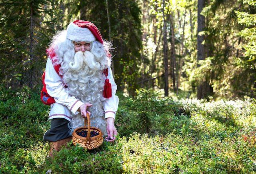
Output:
<svg viewBox="0 0 256 174">
<path fill-rule="evenodd" d="M 68 25 L 67 36 L 72 41 L 92 42 L 98 40 L 103 44 L 100 31 L 93 23 L 83 20 L 75 20 Z"/>
</svg>

